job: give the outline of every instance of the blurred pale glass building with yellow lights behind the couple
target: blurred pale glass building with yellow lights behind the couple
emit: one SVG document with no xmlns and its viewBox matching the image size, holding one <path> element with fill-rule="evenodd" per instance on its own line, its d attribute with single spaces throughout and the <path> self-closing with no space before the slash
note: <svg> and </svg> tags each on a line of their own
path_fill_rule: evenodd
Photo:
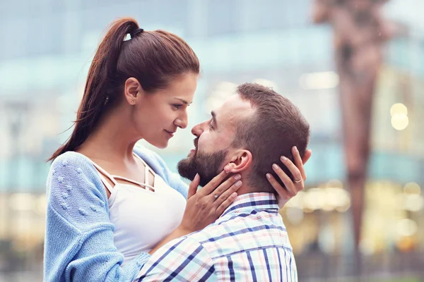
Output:
<svg viewBox="0 0 424 282">
<path fill-rule="evenodd" d="M 424 250 L 424 20 L 411 22 L 396 4 L 387 14 L 408 32 L 387 45 L 375 99 L 361 246 L 367 255 Z M 241 82 L 273 87 L 300 107 L 312 128 L 307 189 L 281 211 L 299 268 L 305 254 L 351 252 L 332 32 L 312 25 L 310 6 L 310 0 L 2 3 L 0 271 L 42 269 L 45 160 L 69 136 L 100 34 L 119 16 L 133 16 L 146 30 L 175 32 L 196 51 L 202 75 L 189 128 Z M 192 139 L 182 130 L 160 152 L 171 168 Z"/>
</svg>

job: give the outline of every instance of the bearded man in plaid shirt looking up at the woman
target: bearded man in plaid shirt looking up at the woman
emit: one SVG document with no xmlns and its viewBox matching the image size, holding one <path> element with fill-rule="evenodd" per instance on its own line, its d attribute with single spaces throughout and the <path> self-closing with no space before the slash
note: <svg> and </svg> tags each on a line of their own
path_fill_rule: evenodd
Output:
<svg viewBox="0 0 424 282">
<path fill-rule="evenodd" d="M 278 163 L 275 156 L 292 156 L 293 146 L 305 154 L 309 124 L 288 99 L 250 83 L 237 87 L 237 94 L 211 114 L 210 121 L 192 129 L 195 149 L 178 171 L 190 180 L 199 173 L 201 185 L 223 169 L 238 173 L 238 197 L 215 223 L 156 251 L 139 281 L 298 281 L 275 190 L 266 177 L 276 181 L 283 175 L 294 183 L 302 178 L 287 168 L 274 169 L 274 176 L 266 171 Z M 283 163 L 294 166 L 288 159 Z"/>
</svg>

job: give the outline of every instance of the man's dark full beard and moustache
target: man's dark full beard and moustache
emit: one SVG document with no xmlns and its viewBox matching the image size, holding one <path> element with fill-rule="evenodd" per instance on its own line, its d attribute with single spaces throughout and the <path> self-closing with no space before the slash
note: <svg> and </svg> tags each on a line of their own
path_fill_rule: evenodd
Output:
<svg viewBox="0 0 424 282">
<path fill-rule="evenodd" d="M 203 187 L 223 170 L 221 166 L 227 153 L 228 150 L 221 150 L 206 154 L 199 152 L 196 148 L 191 158 L 187 157 L 178 162 L 178 173 L 189 180 L 193 180 L 196 173 L 199 173 L 200 185 Z"/>
</svg>

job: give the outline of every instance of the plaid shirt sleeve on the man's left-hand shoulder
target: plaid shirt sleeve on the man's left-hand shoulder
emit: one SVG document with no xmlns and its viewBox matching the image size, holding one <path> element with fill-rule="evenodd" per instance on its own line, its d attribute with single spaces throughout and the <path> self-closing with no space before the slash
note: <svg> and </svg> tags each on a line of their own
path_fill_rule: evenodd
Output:
<svg viewBox="0 0 424 282">
<path fill-rule="evenodd" d="M 135 281 L 218 281 L 213 259 L 196 240 L 170 241 L 144 264 Z"/>
</svg>

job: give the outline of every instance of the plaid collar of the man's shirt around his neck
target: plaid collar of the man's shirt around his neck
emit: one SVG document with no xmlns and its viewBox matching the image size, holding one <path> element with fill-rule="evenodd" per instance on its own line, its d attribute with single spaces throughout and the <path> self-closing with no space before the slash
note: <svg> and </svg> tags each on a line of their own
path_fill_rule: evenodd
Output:
<svg viewBox="0 0 424 282">
<path fill-rule="evenodd" d="M 279 207 L 276 196 L 267 192 L 253 192 L 237 196 L 234 202 L 225 209 L 220 218 L 227 214 L 251 212 L 253 209 L 269 210 L 270 212 L 278 213 Z"/>
</svg>

